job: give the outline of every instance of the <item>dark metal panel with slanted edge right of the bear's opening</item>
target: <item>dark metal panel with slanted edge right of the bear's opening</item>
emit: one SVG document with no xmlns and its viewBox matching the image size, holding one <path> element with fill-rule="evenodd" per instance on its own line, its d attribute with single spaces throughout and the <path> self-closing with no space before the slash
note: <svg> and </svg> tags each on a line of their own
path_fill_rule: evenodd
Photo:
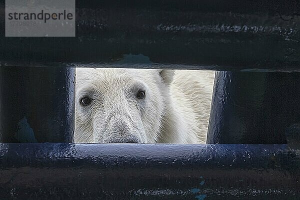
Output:
<svg viewBox="0 0 300 200">
<path fill-rule="evenodd" d="M 207 142 L 286 143 L 299 134 L 299 82 L 297 72 L 217 71 Z"/>
</svg>

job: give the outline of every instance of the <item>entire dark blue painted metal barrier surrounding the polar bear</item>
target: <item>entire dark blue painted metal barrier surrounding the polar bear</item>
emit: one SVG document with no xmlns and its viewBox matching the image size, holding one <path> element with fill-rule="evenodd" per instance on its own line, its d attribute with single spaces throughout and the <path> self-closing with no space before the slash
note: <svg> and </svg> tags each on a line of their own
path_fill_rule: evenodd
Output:
<svg viewBox="0 0 300 200">
<path fill-rule="evenodd" d="M 78 0 L 76 6 L 76 37 L 8 38 L 1 31 L 0 66 L 300 71 L 297 0 Z M 130 54 L 145 59 L 130 61 Z M 215 97 L 222 89 L 230 95 L 220 96 L 226 104 L 213 102 L 208 141 L 284 143 L 284 128 L 298 136 L 297 74 L 218 75 Z M 0 68 L 1 141 L 72 141 L 73 77 L 66 68 Z M 254 96 L 252 81 L 259 82 Z M 282 111 L 284 120 L 268 108 Z M 0 198 L 297 199 L 299 168 L 299 152 L 286 145 L 2 143 Z"/>
</svg>

